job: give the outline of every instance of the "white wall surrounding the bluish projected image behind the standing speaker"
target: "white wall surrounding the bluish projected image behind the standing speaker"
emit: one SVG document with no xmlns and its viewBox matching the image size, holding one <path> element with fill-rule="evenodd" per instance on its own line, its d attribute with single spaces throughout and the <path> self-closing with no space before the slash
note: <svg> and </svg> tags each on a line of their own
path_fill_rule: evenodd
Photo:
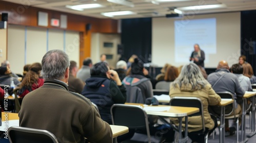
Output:
<svg viewBox="0 0 256 143">
<path fill-rule="evenodd" d="M 217 54 L 208 54 L 205 67 L 217 67 L 220 60 L 227 60 L 229 65 L 238 62 L 240 56 L 240 12 L 220 13 L 220 14 L 205 14 L 195 15 L 195 17 L 183 17 L 183 20 L 200 19 L 200 18 L 214 18 L 216 17 L 217 26 Z M 176 19 L 170 18 L 153 18 L 152 22 L 152 62 L 158 66 L 163 66 L 165 63 L 170 63 L 175 66 L 186 64 L 189 62 L 176 63 L 175 62 L 175 29 L 174 21 Z M 179 19 L 181 20 L 181 19 Z M 184 25 L 185 26 L 185 25 Z M 186 42 L 186 41 L 184 41 Z M 198 43 L 195 41 L 195 43 Z M 200 43 L 199 43 L 200 45 Z M 190 48 L 194 51 L 193 45 Z M 203 47 L 201 46 L 203 50 Z M 207 54 L 207 51 L 204 51 Z"/>
</svg>

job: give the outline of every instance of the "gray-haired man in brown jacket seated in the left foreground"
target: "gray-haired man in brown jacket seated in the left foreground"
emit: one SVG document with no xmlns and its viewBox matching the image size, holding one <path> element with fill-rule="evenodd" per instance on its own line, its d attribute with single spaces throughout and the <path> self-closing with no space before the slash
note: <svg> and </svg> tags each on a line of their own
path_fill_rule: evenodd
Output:
<svg viewBox="0 0 256 143">
<path fill-rule="evenodd" d="M 68 55 L 61 50 L 44 55 L 41 74 L 45 83 L 23 99 L 19 126 L 47 130 L 58 142 L 84 142 L 84 138 L 112 142 L 110 125 L 100 118 L 91 101 L 68 90 L 69 65 Z"/>
</svg>

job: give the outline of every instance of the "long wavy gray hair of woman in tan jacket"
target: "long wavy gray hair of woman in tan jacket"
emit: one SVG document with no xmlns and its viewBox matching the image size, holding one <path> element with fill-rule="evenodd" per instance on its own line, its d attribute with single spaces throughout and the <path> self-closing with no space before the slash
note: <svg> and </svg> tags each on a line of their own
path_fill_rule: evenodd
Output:
<svg viewBox="0 0 256 143">
<path fill-rule="evenodd" d="M 189 87 L 193 90 L 203 89 L 208 81 L 203 77 L 200 68 L 195 63 L 189 63 L 182 67 L 180 75 L 178 78 L 172 82 L 175 87 L 184 86 Z"/>
</svg>

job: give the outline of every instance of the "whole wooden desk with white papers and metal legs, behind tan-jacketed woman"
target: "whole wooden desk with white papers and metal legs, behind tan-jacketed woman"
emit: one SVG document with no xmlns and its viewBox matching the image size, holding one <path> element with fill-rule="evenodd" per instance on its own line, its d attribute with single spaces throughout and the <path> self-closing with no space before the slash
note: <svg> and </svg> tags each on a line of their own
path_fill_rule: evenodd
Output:
<svg viewBox="0 0 256 143">
<path fill-rule="evenodd" d="M 187 142 L 188 136 L 187 136 L 187 116 L 190 114 L 194 114 L 199 112 L 199 108 L 194 107 L 180 107 L 180 106 L 168 106 L 168 105 L 157 105 L 157 106 L 151 106 L 151 105 L 144 105 L 144 104 L 138 104 L 138 103 L 125 103 L 127 105 L 140 105 L 143 107 L 145 112 L 148 115 L 157 115 L 162 120 L 164 120 L 163 116 L 167 117 L 177 117 L 179 119 L 179 140 L 178 142 Z M 154 111 L 151 109 L 146 109 L 147 107 L 155 108 L 156 110 L 161 109 L 162 107 L 169 107 L 167 111 Z M 185 117 L 185 136 L 182 138 L 182 118 Z M 167 123 L 167 122 L 165 122 Z"/>
</svg>

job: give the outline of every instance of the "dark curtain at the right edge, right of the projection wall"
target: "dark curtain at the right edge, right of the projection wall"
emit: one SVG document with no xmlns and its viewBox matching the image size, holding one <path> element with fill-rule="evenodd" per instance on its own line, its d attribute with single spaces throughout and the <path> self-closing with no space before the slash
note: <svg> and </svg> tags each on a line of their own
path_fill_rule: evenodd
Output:
<svg viewBox="0 0 256 143">
<path fill-rule="evenodd" d="M 241 12 L 241 55 L 246 56 L 246 61 L 251 64 L 254 75 L 256 74 L 256 11 Z"/>
</svg>

